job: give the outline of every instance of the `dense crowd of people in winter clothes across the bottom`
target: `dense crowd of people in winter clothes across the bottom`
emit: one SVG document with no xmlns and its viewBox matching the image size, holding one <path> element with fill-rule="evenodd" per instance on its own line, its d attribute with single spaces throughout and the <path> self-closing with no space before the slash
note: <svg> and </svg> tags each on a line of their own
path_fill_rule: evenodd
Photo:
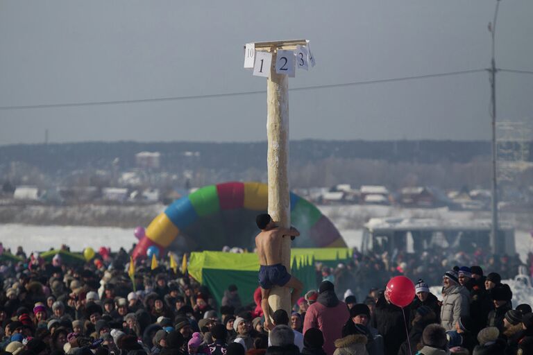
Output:
<svg viewBox="0 0 533 355">
<path fill-rule="evenodd" d="M 273 312 L 269 331 L 259 287 L 244 304 L 228 285 L 217 304 L 165 263 L 140 261 L 130 277 L 126 250 L 78 266 L 19 255 L 25 261 L 0 262 L 2 354 L 533 354 L 532 309 L 514 306 L 502 283 L 511 258 L 355 252 L 337 268 L 318 266 L 316 289 Z M 384 290 L 396 275 L 418 280 L 403 308 Z"/>
</svg>

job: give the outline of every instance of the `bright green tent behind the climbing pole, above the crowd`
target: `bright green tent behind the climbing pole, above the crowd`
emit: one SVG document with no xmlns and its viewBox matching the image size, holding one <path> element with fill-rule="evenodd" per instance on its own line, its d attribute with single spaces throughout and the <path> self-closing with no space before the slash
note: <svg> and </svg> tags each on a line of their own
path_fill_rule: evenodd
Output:
<svg viewBox="0 0 533 355">
<path fill-rule="evenodd" d="M 351 258 L 349 248 L 311 248 L 291 250 L 291 275 L 304 284 L 304 292 L 316 288 L 314 263 L 320 261 L 328 266 L 337 266 Z M 192 252 L 189 259 L 189 275 L 208 286 L 220 304 L 224 291 L 230 284 L 239 288 L 244 304 L 253 302 L 253 293 L 259 286 L 257 272 L 259 260 L 255 253 L 235 254 L 229 252 Z"/>
</svg>

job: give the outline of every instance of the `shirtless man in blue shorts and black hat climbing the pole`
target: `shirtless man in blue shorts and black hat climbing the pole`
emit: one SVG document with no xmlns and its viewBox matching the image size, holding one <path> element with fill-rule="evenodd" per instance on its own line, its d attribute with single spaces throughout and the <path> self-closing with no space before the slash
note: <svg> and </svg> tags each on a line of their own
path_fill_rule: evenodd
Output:
<svg viewBox="0 0 533 355">
<path fill-rule="evenodd" d="M 257 256 L 261 265 L 259 269 L 259 284 L 261 286 L 261 308 L 264 313 L 264 324 L 268 329 L 273 328 L 270 320 L 269 294 L 273 286 L 293 288 L 291 304 L 296 304 L 303 288 L 303 284 L 296 277 L 287 272 L 281 263 L 282 238 L 290 236 L 294 241 L 300 232 L 296 228 L 279 227 L 269 214 L 260 214 L 255 218 L 257 227 L 261 230 L 255 237 Z"/>
</svg>

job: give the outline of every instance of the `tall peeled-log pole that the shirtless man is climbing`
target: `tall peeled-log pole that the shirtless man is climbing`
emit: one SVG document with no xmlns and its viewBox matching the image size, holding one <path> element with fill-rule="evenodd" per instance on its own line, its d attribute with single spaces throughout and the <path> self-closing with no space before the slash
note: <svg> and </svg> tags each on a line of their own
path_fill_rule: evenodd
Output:
<svg viewBox="0 0 533 355">
<path fill-rule="evenodd" d="M 276 47 L 271 47 L 272 66 L 267 80 L 267 166 L 269 179 L 269 214 L 281 227 L 290 227 L 289 179 L 289 80 L 276 73 Z M 290 273 L 291 239 L 282 241 L 282 263 Z M 275 286 L 269 296 L 272 313 L 285 309 L 291 313 L 288 288 Z M 271 313 L 271 314 L 272 314 Z"/>
</svg>

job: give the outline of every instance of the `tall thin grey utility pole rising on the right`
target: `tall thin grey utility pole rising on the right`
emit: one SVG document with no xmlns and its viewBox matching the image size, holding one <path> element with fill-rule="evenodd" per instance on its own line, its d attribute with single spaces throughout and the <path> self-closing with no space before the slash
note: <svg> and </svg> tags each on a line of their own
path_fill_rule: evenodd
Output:
<svg viewBox="0 0 533 355">
<path fill-rule="evenodd" d="M 492 116 L 492 184 L 491 184 L 491 252 L 496 254 L 498 252 L 498 181 L 496 175 L 496 55 L 495 55 L 495 36 L 496 36 L 496 19 L 498 18 L 498 8 L 500 7 L 500 0 L 496 0 L 496 11 L 494 12 L 494 20 L 489 23 L 489 31 L 492 35 L 492 58 L 491 58 L 491 116 Z"/>
</svg>

